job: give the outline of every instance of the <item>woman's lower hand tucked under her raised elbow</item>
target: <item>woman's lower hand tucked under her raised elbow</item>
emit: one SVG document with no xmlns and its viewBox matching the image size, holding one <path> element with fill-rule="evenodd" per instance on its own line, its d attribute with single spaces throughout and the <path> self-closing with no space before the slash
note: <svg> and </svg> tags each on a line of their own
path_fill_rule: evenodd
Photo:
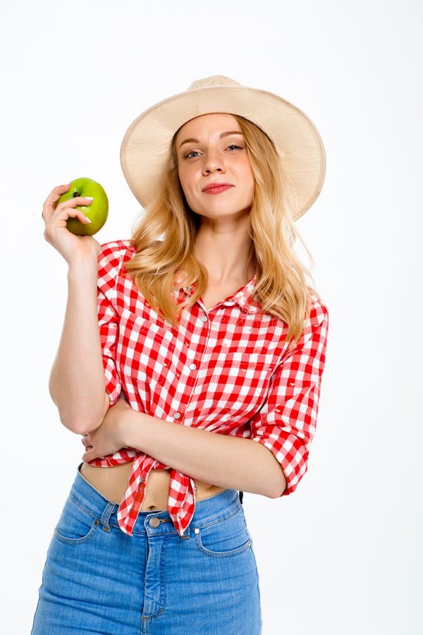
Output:
<svg viewBox="0 0 423 635">
<path fill-rule="evenodd" d="M 82 461 L 88 463 L 92 459 L 103 458 L 107 454 L 113 454 L 126 447 L 126 430 L 130 413 L 133 413 L 133 409 L 128 401 L 119 397 L 116 404 L 107 411 L 99 428 L 82 437 L 86 450 L 82 455 Z"/>
</svg>

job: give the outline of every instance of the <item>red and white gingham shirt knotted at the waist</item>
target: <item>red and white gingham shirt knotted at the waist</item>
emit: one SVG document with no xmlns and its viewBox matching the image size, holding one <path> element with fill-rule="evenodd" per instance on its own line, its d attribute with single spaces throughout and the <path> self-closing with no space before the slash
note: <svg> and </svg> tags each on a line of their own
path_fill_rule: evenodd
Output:
<svg viewBox="0 0 423 635">
<path fill-rule="evenodd" d="M 290 494 L 307 471 L 316 426 L 326 306 L 312 293 L 309 319 L 291 351 L 283 341 L 286 323 L 259 312 L 252 296 L 255 278 L 209 310 L 195 302 L 172 327 L 125 272 L 134 253 L 130 241 L 105 243 L 99 253 L 99 329 L 110 404 L 123 392 L 133 409 L 153 417 L 264 444 L 285 474 L 283 495 Z M 192 288 L 178 293 L 183 301 Z M 118 524 L 131 534 L 150 471 L 168 466 L 130 448 L 90 464 L 128 461 L 133 466 Z M 195 512 L 195 485 L 174 469 L 168 512 L 183 536 Z"/>
</svg>

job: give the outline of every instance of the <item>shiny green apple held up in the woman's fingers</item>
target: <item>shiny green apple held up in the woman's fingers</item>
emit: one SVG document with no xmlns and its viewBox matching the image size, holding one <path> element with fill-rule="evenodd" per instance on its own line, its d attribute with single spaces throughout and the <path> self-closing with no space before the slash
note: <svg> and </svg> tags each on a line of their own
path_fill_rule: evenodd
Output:
<svg viewBox="0 0 423 635">
<path fill-rule="evenodd" d="M 76 236 L 94 236 L 97 231 L 102 229 L 107 220 L 107 214 L 109 214 L 109 200 L 106 192 L 97 181 L 81 176 L 79 179 L 71 181 L 71 187 L 61 195 L 58 205 L 60 202 L 75 196 L 90 196 L 94 198 L 91 205 L 78 205 L 78 210 L 82 210 L 91 222 L 84 224 L 77 218 L 68 218 L 66 226 Z"/>
</svg>

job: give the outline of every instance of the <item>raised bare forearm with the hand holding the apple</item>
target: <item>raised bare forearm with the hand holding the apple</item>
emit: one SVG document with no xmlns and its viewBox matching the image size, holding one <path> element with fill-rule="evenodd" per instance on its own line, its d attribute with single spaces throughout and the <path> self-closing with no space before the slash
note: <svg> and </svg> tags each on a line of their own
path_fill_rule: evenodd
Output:
<svg viewBox="0 0 423 635">
<path fill-rule="evenodd" d="M 87 222 L 75 205 L 90 204 L 74 198 L 56 207 L 67 189 L 54 188 L 43 207 L 44 236 L 68 263 L 68 303 L 49 389 L 63 425 L 85 434 L 98 428 L 109 408 L 97 317 L 99 243 L 91 236 L 74 236 L 66 228 L 69 217 Z"/>
</svg>

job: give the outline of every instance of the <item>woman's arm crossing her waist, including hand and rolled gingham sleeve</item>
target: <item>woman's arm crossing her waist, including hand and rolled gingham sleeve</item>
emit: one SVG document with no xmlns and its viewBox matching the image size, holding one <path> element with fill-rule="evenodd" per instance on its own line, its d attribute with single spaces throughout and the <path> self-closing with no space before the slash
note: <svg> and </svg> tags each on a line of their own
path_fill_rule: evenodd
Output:
<svg viewBox="0 0 423 635">
<path fill-rule="evenodd" d="M 250 421 L 252 438 L 219 435 L 133 411 L 119 399 L 82 442 L 90 461 L 134 447 L 206 483 L 279 497 L 307 469 L 316 428 L 329 315 L 315 301 L 302 338 L 274 373 L 266 403 Z"/>
</svg>

